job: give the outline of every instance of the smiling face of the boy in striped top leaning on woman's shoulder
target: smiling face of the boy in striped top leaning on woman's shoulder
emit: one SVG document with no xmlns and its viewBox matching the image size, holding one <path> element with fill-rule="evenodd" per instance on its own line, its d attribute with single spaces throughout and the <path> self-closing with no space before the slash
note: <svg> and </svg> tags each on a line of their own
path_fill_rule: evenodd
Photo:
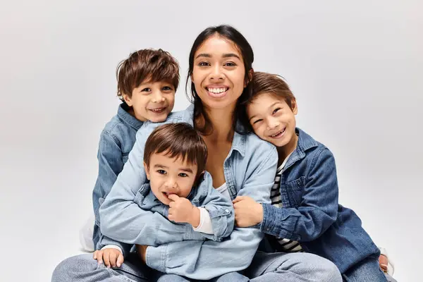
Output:
<svg viewBox="0 0 423 282">
<path fill-rule="evenodd" d="M 284 99 L 269 93 L 259 94 L 247 106 L 248 118 L 255 134 L 276 147 L 290 144 L 295 135 L 297 112 L 295 102 L 291 109 Z"/>
</svg>

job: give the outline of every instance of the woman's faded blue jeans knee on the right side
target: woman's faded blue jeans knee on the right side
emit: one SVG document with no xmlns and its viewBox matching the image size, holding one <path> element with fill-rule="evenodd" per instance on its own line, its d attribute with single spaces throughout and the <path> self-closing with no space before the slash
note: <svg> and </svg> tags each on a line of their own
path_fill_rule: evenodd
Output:
<svg viewBox="0 0 423 282">
<path fill-rule="evenodd" d="M 342 282 L 335 264 L 306 252 L 257 252 L 245 274 L 251 282 Z"/>
</svg>

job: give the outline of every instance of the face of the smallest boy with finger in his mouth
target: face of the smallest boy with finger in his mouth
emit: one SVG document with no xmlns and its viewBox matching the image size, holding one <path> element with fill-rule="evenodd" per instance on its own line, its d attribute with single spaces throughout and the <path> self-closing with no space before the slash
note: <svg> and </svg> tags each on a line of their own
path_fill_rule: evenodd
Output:
<svg viewBox="0 0 423 282">
<path fill-rule="evenodd" d="M 197 165 L 188 164 L 178 157 L 168 157 L 165 153 L 152 154 L 149 166 L 144 164 L 144 168 L 154 196 L 168 205 L 170 194 L 188 197 L 197 176 Z"/>
</svg>

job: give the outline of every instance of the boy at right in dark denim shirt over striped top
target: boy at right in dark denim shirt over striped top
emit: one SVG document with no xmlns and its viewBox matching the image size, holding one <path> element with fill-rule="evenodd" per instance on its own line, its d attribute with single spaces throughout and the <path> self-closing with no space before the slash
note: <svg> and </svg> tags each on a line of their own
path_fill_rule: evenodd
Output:
<svg viewBox="0 0 423 282">
<path fill-rule="evenodd" d="M 277 75 L 255 73 L 243 123 L 278 150 L 271 204 L 235 199 L 248 207 L 271 245 L 280 252 L 312 252 L 330 259 L 345 281 L 386 281 L 379 249 L 353 210 L 338 204 L 338 181 L 331 151 L 296 128 L 293 93 Z M 242 203 L 245 201 L 244 203 Z M 277 220 L 275 220 L 277 219 Z"/>
</svg>

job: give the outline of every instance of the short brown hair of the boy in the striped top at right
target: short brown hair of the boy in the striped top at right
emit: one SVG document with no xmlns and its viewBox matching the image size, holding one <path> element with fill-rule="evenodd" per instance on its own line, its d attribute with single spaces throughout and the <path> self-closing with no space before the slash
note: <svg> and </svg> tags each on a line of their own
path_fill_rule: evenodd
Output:
<svg viewBox="0 0 423 282">
<path fill-rule="evenodd" d="M 240 114 L 239 117 L 241 123 L 243 123 L 245 128 L 250 131 L 253 130 L 252 126 L 250 125 L 250 119 L 247 116 L 247 106 L 263 93 L 274 94 L 276 98 L 283 99 L 286 104 L 288 104 L 290 109 L 293 109 L 295 104 L 295 96 L 290 90 L 288 83 L 286 83 L 281 75 L 256 71 L 252 75 L 252 80 L 250 82 L 250 92 L 244 102 L 244 111 L 242 114 Z"/>
</svg>

